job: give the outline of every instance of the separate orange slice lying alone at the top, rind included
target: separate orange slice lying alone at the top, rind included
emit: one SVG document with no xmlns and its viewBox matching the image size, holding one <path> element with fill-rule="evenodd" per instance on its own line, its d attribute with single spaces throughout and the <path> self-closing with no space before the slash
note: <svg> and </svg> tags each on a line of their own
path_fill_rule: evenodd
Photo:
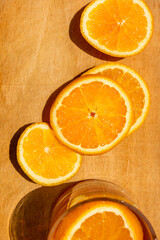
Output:
<svg viewBox="0 0 160 240">
<path fill-rule="evenodd" d="M 101 52 L 127 57 L 148 44 L 153 17 L 143 0 L 95 0 L 84 9 L 80 29 L 83 37 Z"/>
</svg>

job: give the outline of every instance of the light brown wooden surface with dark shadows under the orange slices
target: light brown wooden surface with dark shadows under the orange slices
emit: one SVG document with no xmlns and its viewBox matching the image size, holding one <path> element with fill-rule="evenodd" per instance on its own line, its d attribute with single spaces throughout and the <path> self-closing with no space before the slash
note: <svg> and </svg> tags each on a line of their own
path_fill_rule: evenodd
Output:
<svg viewBox="0 0 160 240">
<path fill-rule="evenodd" d="M 18 137 L 26 124 L 48 121 L 63 84 L 106 61 L 124 63 L 144 77 L 150 112 L 144 125 L 112 151 L 84 156 L 71 182 L 99 178 L 121 185 L 160 238 L 160 0 L 146 0 L 155 23 L 151 42 L 126 59 L 104 55 L 82 38 L 79 17 L 88 2 L 0 1 L 1 240 L 46 240 L 49 209 L 67 185 L 45 188 L 29 181 L 16 161 Z"/>
</svg>

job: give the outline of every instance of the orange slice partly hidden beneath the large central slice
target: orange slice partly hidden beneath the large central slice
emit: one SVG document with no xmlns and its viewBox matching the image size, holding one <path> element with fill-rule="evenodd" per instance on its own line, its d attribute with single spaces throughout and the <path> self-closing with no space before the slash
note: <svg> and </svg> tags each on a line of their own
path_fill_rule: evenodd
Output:
<svg viewBox="0 0 160 240">
<path fill-rule="evenodd" d="M 150 106 L 150 93 L 145 81 L 128 66 L 119 63 L 107 63 L 90 69 L 86 74 L 101 74 L 118 82 L 132 101 L 133 123 L 129 134 L 144 122 Z"/>
</svg>

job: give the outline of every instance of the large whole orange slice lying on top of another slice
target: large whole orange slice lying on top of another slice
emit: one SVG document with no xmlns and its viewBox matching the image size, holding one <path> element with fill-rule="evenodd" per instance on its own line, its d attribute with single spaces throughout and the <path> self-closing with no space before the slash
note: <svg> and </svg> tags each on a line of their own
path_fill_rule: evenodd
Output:
<svg viewBox="0 0 160 240">
<path fill-rule="evenodd" d="M 132 125 L 132 105 L 119 84 L 101 75 L 78 78 L 53 103 L 50 123 L 57 138 L 82 154 L 104 153 Z"/>
</svg>

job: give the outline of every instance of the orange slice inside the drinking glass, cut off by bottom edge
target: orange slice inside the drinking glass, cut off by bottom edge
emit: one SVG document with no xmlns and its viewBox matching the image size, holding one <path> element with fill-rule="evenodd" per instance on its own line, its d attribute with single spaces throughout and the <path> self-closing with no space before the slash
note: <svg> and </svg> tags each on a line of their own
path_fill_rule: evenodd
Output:
<svg viewBox="0 0 160 240">
<path fill-rule="evenodd" d="M 136 215 L 126 206 L 109 201 L 84 203 L 60 222 L 53 240 L 143 240 Z"/>
</svg>

